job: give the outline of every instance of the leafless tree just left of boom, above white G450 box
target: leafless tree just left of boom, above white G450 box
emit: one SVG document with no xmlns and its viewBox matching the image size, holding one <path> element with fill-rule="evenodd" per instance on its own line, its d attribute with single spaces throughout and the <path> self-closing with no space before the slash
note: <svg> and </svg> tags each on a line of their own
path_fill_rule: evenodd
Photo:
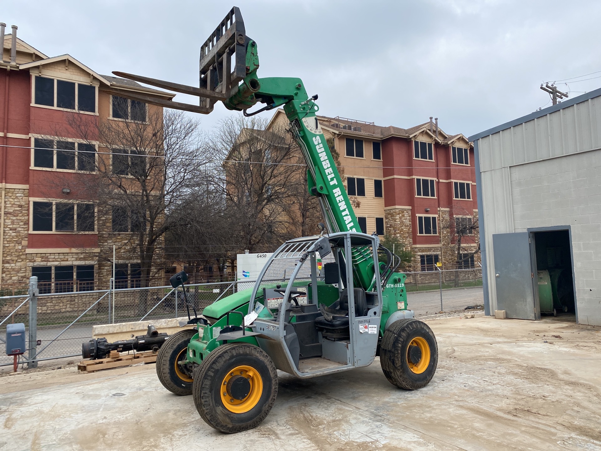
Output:
<svg viewBox="0 0 601 451">
<path fill-rule="evenodd" d="M 274 247 L 294 236 L 290 215 L 297 201 L 291 186 L 297 179 L 297 147 L 285 130 L 265 130 L 260 118 L 229 117 L 212 137 L 212 149 L 223 161 L 223 187 L 231 234 L 243 249 Z"/>
</svg>

